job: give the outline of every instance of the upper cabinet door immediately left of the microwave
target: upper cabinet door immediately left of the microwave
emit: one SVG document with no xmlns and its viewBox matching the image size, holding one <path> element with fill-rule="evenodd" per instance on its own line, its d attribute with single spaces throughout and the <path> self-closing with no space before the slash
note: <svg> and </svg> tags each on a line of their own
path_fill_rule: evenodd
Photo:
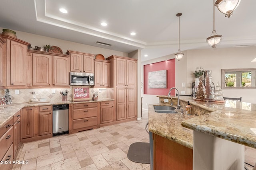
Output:
<svg viewBox="0 0 256 170">
<path fill-rule="evenodd" d="M 68 86 L 70 58 L 53 56 L 53 85 Z"/>
</svg>

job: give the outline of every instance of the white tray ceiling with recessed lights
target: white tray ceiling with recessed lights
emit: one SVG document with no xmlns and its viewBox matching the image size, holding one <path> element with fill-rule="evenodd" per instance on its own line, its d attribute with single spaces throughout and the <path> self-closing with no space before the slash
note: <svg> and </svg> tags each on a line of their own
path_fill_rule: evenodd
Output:
<svg viewBox="0 0 256 170">
<path fill-rule="evenodd" d="M 142 61 L 180 49 L 211 48 L 212 0 L 0 0 L 0 27 L 123 51 L 142 49 Z M 256 45 L 256 0 L 241 0 L 230 18 L 215 7 L 217 48 Z M 59 12 L 66 8 L 67 14 Z M 100 25 L 108 23 L 106 27 Z M 134 31 L 136 35 L 130 33 Z M 111 47 L 95 42 L 112 44 Z M 148 57 L 144 57 L 147 54 Z"/>
</svg>

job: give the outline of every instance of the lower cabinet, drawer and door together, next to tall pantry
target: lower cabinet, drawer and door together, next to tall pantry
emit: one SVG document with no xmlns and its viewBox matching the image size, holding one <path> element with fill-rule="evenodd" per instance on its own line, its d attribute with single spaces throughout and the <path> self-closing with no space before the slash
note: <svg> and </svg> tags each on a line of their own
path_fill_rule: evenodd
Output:
<svg viewBox="0 0 256 170">
<path fill-rule="evenodd" d="M 100 124 L 114 121 L 114 102 L 100 102 Z"/>
</svg>

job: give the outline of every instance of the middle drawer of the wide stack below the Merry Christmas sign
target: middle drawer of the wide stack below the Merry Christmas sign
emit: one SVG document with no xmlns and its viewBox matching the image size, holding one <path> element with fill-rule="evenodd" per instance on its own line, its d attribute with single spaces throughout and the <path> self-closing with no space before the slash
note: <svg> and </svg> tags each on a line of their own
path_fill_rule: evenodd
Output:
<svg viewBox="0 0 256 170">
<path fill-rule="evenodd" d="M 87 109 L 73 110 L 73 119 L 82 119 L 86 117 L 97 116 L 97 107 L 89 107 Z"/>
</svg>

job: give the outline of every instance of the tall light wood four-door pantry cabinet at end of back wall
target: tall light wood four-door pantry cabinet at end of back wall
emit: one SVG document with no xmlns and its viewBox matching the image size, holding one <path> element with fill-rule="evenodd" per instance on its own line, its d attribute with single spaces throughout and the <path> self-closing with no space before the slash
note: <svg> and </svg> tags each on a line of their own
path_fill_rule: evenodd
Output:
<svg viewBox="0 0 256 170">
<path fill-rule="evenodd" d="M 137 60 L 112 55 L 109 97 L 115 101 L 116 121 L 137 117 Z"/>
</svg>

